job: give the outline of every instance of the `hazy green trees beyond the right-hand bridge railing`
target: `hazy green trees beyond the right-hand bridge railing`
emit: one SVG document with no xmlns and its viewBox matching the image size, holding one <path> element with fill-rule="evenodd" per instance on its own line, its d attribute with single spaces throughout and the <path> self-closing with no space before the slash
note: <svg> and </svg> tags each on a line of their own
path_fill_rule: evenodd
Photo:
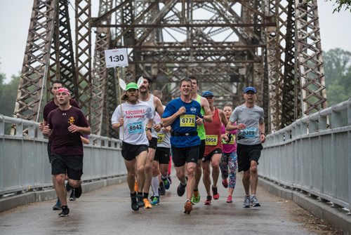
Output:
<svg viewBox="0 0 351 235">
<path fill-rule="evenodd" d="M 340 48 L 323 52 L 328 106 L 351 98 L 351 52 Z"/>
</svg>

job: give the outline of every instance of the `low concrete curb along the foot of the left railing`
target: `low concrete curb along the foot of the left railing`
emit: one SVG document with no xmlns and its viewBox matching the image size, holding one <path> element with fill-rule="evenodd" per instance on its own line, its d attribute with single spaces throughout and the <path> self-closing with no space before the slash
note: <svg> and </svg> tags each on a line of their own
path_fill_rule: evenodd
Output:
<svg viewBox="0 0 351 235">
<path fill-rule="evenodd" d="M 111 177 L 103 180 L 96 180 L 93 182 L 83 182 L 81 188 L 83 192 L 91 192 L 102 187 L 107 187 L 112 184 L 120 184 L 126 182 L 126 175 Z M 15 196 L 8 196 L 0 199 L 0 213 L 5 210 L 10 210 L 16 206 L 23 206 L 37 201 L 48 201 L 56 198 L 54 189 L 46 189 L 42 191 L 26 192 Z"/>
</svg>

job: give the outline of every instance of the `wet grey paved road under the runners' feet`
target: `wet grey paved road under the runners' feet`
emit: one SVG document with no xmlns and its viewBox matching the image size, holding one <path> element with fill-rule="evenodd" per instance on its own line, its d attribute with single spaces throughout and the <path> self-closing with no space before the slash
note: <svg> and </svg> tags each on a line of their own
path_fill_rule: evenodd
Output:
<svg viewBox="0 0 351 235">
<path fill-rule="evenodd" d="M 227 191 L 220 184 L 220 199 L 205 206 L 202 187 L 191 215 L 183 213 L 185 196 L 177 196 L 178 183 L 173 178 L 159 206 L 138 212 L 131 210 L 126 183 L 83 193 L 69 202 L 69 217 L 51 210 L 53 200 L 20 206 L 0 214 L 0 234 L 311 234 L 289 219 L 284 199 L 263 188 L 258 188 L 262 206 L 242 208 L 240 175 L 233 203 L 225 202 Z"/>
</svg>

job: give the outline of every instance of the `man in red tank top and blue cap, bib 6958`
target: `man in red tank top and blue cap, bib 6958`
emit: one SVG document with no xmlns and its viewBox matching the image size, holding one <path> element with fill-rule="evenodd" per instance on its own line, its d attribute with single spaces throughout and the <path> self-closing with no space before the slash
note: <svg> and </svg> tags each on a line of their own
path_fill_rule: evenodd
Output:
<svg viewBox="0 0 351 235">
<path fill-rule="evenodd" d="M 225 134 L 222 135 L 220 133 L 220 127 L 222 126 L 222 123 L 225 126 L 227 126 L 228 121 L 227 121 L 227 118 L 225 117 L 224 112 L 214 107 L 213 102 L 215 98 L 213 93 L 210 90 L 204 91 L 204 93 L 202 93 L 202 97 L 206 98 L 206 100 L 208 101 L 208 104 L 211 109 L 211 114 L 212 114 L 212 122 L 204 123 L 205 130 L 206 130 L 206 139 L 205 139 L 206 147 L 205 147 L 204 157 L 202 158 L 202 169 L 204 170 L 202 181 L 204 182 L 206 193 L 207 193 L 206 201 L 204 204 L 211 205 L 212 196 L 210 192 L 210 187 L 211 187 L 210 165 L 212 166 L 213 199 L 218 200 L 219 194 L 217 189 L 217 182 L 218 182 L 218 177 L 220 173 L 220 168 L 219 168 L 220 157 L 222 156 L 222 138 L 227 138 L 227 135 Z"/>
</svg>

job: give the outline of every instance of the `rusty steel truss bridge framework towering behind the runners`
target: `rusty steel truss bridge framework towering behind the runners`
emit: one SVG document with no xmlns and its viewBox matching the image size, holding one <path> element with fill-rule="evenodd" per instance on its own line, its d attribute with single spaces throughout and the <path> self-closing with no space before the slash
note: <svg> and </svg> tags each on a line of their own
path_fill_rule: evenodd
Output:
<svg viewBox="0 0 351 235">
<path fill-rule="evenodd" d="M 128 48 L 128 67 L 105 67 L 111 48 Z M 242 88 L 256 86 L 267 132 L 289 126 L 326 108 L 317 1 L 34 0 L 14 116 L 41 120 L 51 81 L 62 80 L 93 134 L 115 137 L 117 77 L 140 74 L 165 101 L 196 76 L 219 107 L 239 105 Z"/>
</svg>

